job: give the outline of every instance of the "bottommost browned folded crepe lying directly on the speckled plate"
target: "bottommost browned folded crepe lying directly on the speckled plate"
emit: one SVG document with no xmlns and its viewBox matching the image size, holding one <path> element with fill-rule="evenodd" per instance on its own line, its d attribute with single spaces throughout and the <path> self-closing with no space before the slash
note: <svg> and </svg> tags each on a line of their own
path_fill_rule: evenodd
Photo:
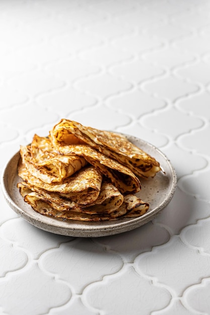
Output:
<svg viewBox="0 0 210 315">
<path fill-rule="evenodd" d="M 57 202 L 57 199 L 53 200 L 53 198 L 48 198 L 46 195 L 42 193 L 37 193 L 35 191 L 31 191 L 27 185 L 24 183 L 20 183 L 18 185 L 22 196 L 24 197 L 24 201 L 31 205 L 31 207 L 38 213 L 46 216 L 52 216 L 55 218 L 61 218 L 63 220 L 81 220 L 81 221 L 104 221 L 104 220 L 114 220 L 122 217 L 129 216 L 131 217 L 139 216 L 144 214 L 148 208 L 149 204 L 143 202 L 141 199 L 137 198 L 135 195 L 127 195 L 125 199 L 121 199 L 121 205 L 116 207 L 107 207 L 106 208 L 106 200 L 109 198 L 105 198 L 102 203 L 99 200 L 99 204 L 103 207 L 102 209 L 98 206 L 94 207 L 94 205 L 90 205 L 86 208 L 79 207 L 75 204 L 75 207 L 62 207 L 62 204 Z M 106 190 L 108 186 L 106 187 Z M 108 189 L 109 190 L 109 189 Z M 100 199 L 100 198 L 99 198 Z M 116 196 L 114 197 L 116 200 Z M 122 202 L 123 200 L 123 202 Z M 105 201 L 105 203 L 104 203 Z M 64 201 L 65 202 L 65 201 Z M 67 202 L 67 201 L 66 201 Z"/>
</svg>

